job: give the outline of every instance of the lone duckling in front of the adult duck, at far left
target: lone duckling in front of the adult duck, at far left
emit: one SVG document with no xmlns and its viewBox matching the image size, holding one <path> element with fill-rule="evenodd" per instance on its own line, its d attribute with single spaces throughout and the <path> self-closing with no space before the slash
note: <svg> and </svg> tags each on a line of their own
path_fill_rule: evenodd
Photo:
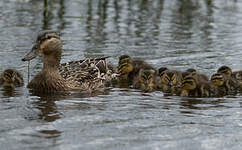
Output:
<svg viewBox="0 0 242 150">
<path fill-rule="evenodd" d="M 0 85 L 3 87 L 20 87 L 24 85 L 22 74 L 15 69 L 6 69 L 0 75 Z"/>
</svg>

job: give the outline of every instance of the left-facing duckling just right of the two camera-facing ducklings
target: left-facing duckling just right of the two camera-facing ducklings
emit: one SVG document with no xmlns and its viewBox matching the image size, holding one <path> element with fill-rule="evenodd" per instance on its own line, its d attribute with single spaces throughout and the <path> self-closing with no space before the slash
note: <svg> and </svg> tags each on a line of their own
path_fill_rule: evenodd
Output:
<svg viewBox="0 0 242 150">
<path fill-rule="evenodd" d="M 208 81 L 199 81 L 195 76 L 186 76 L 180 86 L 180 96 L 213 97 L 217 96 L 217 88 Z"/>
</svg>

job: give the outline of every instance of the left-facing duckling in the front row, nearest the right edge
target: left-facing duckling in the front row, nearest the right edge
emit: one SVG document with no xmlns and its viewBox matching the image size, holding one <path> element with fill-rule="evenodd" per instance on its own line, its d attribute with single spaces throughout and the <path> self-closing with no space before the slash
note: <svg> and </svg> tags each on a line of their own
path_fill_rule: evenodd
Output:
<svg viewBox="0 0 242 150">
<path fill-rule="evenodd" d="M 239 83 L 233 78 L 227 77 L 222 73 L 215 73 L 211 76 L 211 82 L 217 86 L 219 95 L 236 94 L 239 89 Z"/>
</svg>

